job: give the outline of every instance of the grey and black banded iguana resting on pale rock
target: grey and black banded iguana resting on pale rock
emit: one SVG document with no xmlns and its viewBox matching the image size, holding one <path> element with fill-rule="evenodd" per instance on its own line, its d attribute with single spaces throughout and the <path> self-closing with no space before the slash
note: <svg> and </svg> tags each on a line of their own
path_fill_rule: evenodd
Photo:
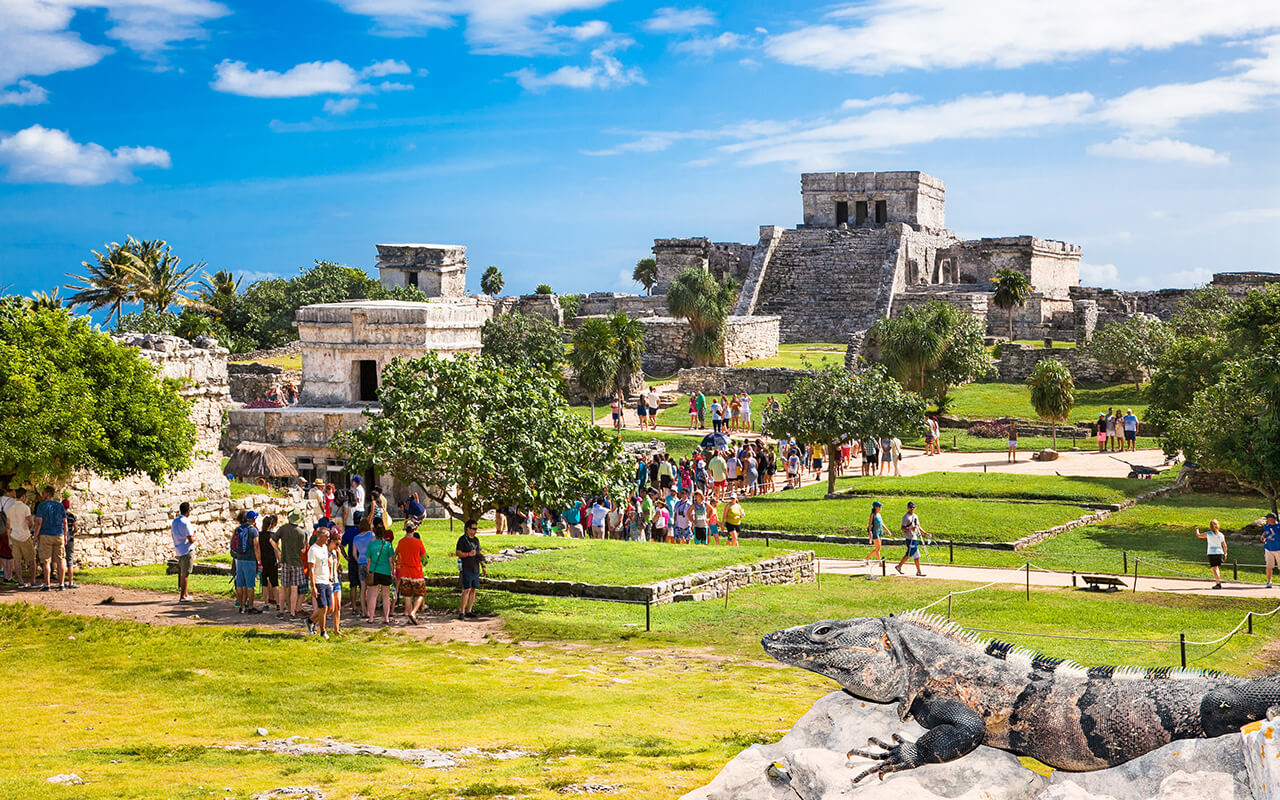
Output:
<svg viewBox="0 0 1280 800">
<path fill-rule="evenodd" d="M 1071 772 L 1123 764 L 1176 739 L 1221 736 L 1280 713 L 1280 676 L 1201 669 L 1085 668 L 982 640 L 933 614 L 826 620 L 769 634 L 764 650 L 837 681 L 870 703 L 897 703 L 929 728 L 879 750 L 854 782 L 937 764 L 978 745 Z"/>
</svg>

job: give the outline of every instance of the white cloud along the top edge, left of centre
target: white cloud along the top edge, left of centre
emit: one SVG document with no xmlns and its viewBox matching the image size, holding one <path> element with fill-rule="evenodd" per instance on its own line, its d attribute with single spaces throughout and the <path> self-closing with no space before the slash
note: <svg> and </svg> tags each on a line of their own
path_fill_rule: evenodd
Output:
<svg viewBox="0 0 1280 800">
<path fill-rule="evenodd" d="M 561 14 L 596 9 L 609 0 L 332 0 L 343 10 L 369 17 L 375 32 L 417 36 L 466 19 L 466 40 L 475 52 L 532 55 L 556 52 L 564 40 L 602 36 L 599 20 L 559 27 Z"/>
</svg>

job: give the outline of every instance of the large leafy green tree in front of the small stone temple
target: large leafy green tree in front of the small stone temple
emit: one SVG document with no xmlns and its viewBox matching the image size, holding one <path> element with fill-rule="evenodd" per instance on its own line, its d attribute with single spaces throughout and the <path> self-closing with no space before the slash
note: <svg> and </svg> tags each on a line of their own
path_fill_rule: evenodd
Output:
<svg viewBox="0 0 1280 800">
<path fill-rule="evenodd" d="M 545 370 L 460 355 L 394 360 L 383 371 L 381 413 L 337 445 L 356 470 L 417 484 L 454 518 L 503 506 L 563 508 L 621 493 L 631 462 L 604 429 L 576 416 Z"/>
</svg>

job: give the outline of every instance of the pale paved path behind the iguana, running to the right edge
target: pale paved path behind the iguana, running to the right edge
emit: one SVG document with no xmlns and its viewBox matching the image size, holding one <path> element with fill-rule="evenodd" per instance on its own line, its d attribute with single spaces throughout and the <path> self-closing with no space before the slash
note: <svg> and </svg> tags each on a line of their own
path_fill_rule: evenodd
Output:
<svg viewBox="0 0 1280 800">
<path fill-rule="evenodd" d="M 891 548 L 895 549 L 895 548 Z M 896 558 L 901 558 L 901 548 L 896 548 Z M 896 576 L 893 567 L 897 563 L 896 558 L 890 559 L 886 564 L 886 571 L 891 576 Z M 823 577 L 832 575 L 847 575 L 852 577 L 865 577 L 867 576 L 867 562 L 865 561 L 852 561 L 842 558 L 819 558 L 819 567 L 822 568 Z M 1189 566 L 1189 564 L 1188 564 Z M 1000 568 L 1000 567 L 959 567 L 951 564 L 922 564 L 924 570 L 924 577 L 915 577 L 915 567 L 910 562 L 902 567 L 904 573 L 908 580 L 943 580 L 943 581 L 972 581 L 974 584 L 991 584 L 998 581 L 1001 584 L 1014 584 L 1018 586 L 1027 585 L 1027 572 L 1025 570 L 1016 568 Z M 1190 570 L 1196 567 L 1189 566 Z M 1204 567 L 1208 571 L 1208 567 Z M 881 575 L 879 564 L 873 570 L 876 576 Z M 1083 575 L 1083 573 L 1082 573 Z M 1133 590 L 1133 576 L 1117 576 L 1125 584 L 1124 591 Z M 1032 586 L 1070 586 L 1071 575 L 1061 572 L 1041 572 L 1034 567 L 1032 568 Z M 1084 581 L 1079 581 L 1079 586 L 1083 588 Z M 1167 591 L 1175 594 L 1204 594 L 1212 596 L 1229 596 L 1229 598 L 1254 598 L 1254 599 L 1270 599 L 1280 604 L 1280 589 L 1267 589 L 1262 584 L 1247 584 L 1247 582 L 1234 582 L 1222 581 L 1222 589 L 1213 589 L 1213 581 L 1211 580 L 1197 580 L 1189 577 L 1167 577 L 1167 576 L 1138 576 L 1138 591 Z"/>
</svg>

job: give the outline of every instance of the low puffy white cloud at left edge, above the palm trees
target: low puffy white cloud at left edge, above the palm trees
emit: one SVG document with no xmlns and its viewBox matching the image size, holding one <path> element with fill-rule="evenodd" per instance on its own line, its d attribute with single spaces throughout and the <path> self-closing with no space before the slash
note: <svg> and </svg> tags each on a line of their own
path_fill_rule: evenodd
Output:
<svg viewBox="0 0 1280 800">
<path fill-rule="evenodd" d="M 32 125 L 0 137 L 0 164 L 10 183 L 69 183 L 97 186 L 136 180 L 141 166 L 169 169 L 169 152 L 159 147 L 116 147 L 108 151 L 92 142 L 81 145 L 65 131 Z"/>
</svg>

